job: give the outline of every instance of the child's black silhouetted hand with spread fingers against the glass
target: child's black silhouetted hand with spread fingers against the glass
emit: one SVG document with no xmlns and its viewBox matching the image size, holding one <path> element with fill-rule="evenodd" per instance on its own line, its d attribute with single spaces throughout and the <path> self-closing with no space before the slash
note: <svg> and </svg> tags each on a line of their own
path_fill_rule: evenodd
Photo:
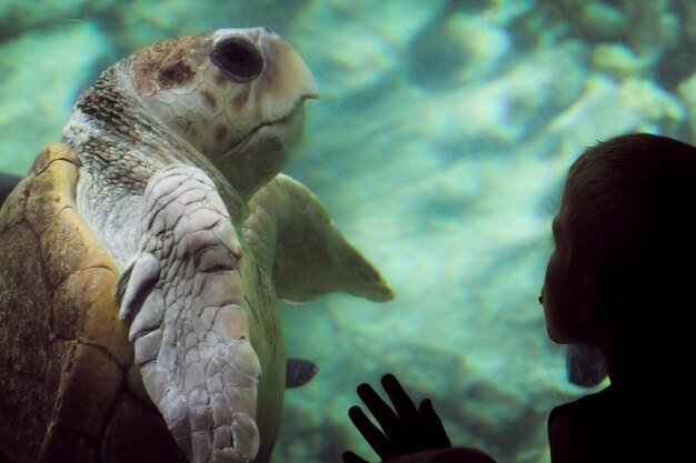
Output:
<svg viewBox="0 0 696 463">
<path fill-rule="evenodd" d="M 477 450 L 453 449 L 429 399 L 420 401 L 416 409 L 392 374 L 385 374 L 381 385 L 394 404 L 394 410 L 379 397 L 371 385 L 362 383 L 357 389 L 358 396 L 381 430 L 372 424 L 359 406 L 351 406 L 348 416 L 384 462 L 495 463 Z M 350 451 L 344 453 L 342 460 L 344 463 L 368 463 Z"/>
</svg>

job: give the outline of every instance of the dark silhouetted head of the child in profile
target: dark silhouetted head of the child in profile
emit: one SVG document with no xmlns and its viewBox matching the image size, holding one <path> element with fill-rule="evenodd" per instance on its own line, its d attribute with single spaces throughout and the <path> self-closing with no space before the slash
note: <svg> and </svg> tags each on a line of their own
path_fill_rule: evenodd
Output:
<svg viewBox="0 0 696 463">
<path fill-rule="evenodd" d="M 695 204 L 695 147 L 635 133 L 587 149 L 568 171 L 554 219 L 544 283 L 549 336 L 591 344 L 597 322 L 643 336 L 670 319 L 652 306 L 690 303 Z"/>
</svg>

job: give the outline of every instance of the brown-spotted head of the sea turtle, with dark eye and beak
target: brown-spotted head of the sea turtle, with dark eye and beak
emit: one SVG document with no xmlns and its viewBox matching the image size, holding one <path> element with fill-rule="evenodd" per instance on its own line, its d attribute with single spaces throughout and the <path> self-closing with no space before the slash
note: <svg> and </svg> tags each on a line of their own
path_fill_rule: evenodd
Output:
<svg viewBox="0 0 696 463">
<path fill-rule="evenodd" d="M 155 117 L 208 158 L 243 197 L 298 143 L 311 72 L 266 28 L 220 29 L 156 43 L 126 63 Z"/>
</svg>

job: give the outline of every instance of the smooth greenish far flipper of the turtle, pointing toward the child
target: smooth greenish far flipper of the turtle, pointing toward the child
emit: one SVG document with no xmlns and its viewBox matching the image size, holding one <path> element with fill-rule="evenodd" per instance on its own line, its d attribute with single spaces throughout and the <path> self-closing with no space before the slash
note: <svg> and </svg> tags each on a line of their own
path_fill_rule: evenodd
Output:
<svg viewBox="0 0 696 463">
<path fill-rule="evenodd" d="M 253 194 L 249 212 L 245 235 L 279 298 L 304 302 L 340 291 L 378 302 L 394 299 L 377 269 L 301 183 L 278 174 Z"/>
</svg>

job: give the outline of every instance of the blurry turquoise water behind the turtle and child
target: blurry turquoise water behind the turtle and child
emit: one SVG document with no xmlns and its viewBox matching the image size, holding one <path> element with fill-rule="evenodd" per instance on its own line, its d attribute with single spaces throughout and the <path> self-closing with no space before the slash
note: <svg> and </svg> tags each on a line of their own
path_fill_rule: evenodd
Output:
<svg viewBox="0 0 696 463">
<path fill-rule="evenodd" d="M 286 172 L 396 292 L 281 305 L 289 354 L 320 370 L 287 392 L 275 461 L 368 455 L 347 410 L 359 382 L 391 371 L 434 400 L 453 442 L 547 462 L 548 411 L 588 392 L 536 301 L 563 178 L 615 134 L 693 142 L 690 4 L 0 0 L 0 170 L 24 173 L 77 94 L 135 49 L 270 27 L 321 93 Z"/>
</svg>

